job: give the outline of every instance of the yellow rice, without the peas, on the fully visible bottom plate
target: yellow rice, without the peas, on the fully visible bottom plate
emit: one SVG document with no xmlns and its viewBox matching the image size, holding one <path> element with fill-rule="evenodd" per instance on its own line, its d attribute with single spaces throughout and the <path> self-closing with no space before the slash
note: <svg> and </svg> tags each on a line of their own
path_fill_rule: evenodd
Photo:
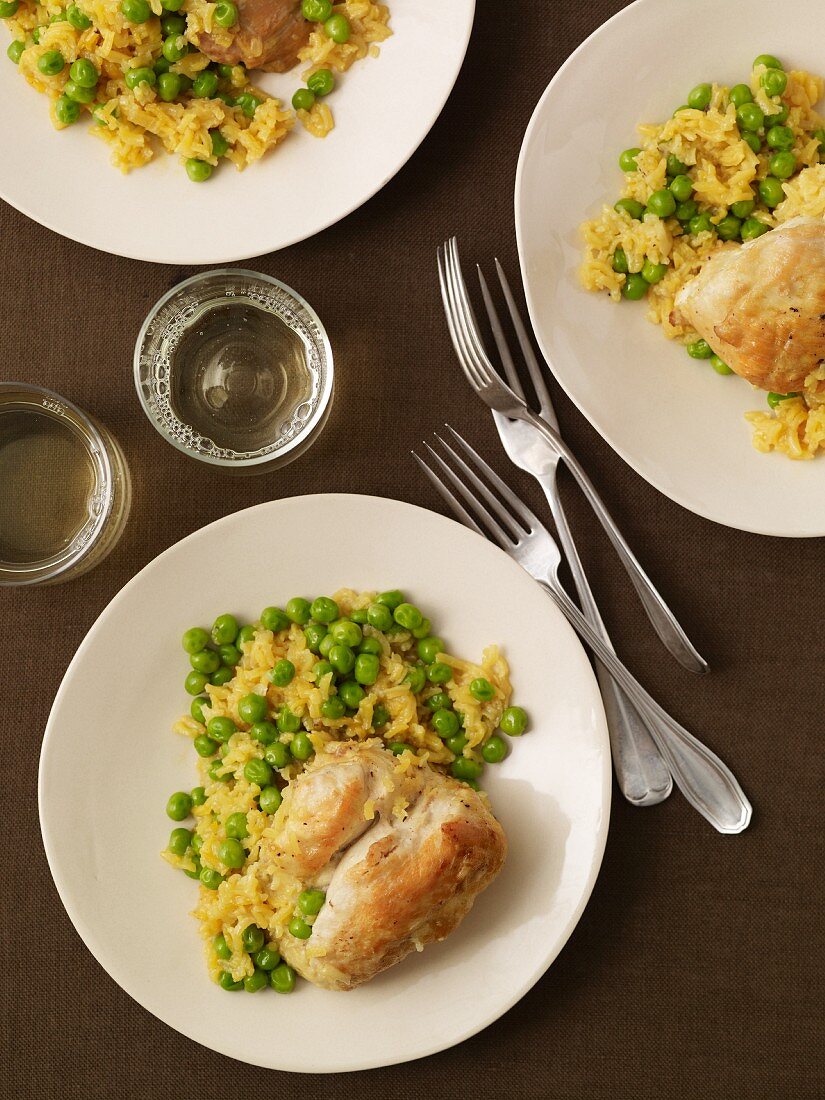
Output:
<svg viewBox="0 0 825 1100">
<path fill-rule="evenodd" d="M 375 593 L 344 588 L 337 592 L 333 598 L 341 614 L 349 615 L 355 608 L 367 607 L 374 602 Z M 416 660 L 417 641 L 413 635 L 400 630 L 388 636 L 371 626 L 363 626 L 362 630 L 381 644 L 381 672 L 376 682 L 365 689 L 366 694 L 352 716 L 334 721 L 321 716 L 323 702 L 334 693 L 331 692 L 332 678 L 328 673 L 320 682 L 316 680 L 314 668 L 319 658 L 307 648 L 304 629 L 295 625 L 278 635 L 258 626 L 254 640 L 240 647 L 243 657 L 234 678 L 223 686 L 208 685 L 206 689 L 209 705 L 204 707 L 205 718 L 208 721 L 218 715 L 230 717 L 239 732 L 232 735 L 222 755 L 221 771 L 233 778 L 232 783 L 210 779 L 208 768 L 212 761 L 198 758 L 198 783 L 205 789 L 206 801 L 193 813 L 197 835 L 202 842 L 202 865 L 227 875 L 229 869 L 221 864 L 218 848 L 227 837 L 226 821 L 230 814 L 244 813 L 249 829 L 244 842 L 249 858 L 243 871 L 230 871 L 217 890 L 198 887 L 199 899 L 194 916 L 199 921 L 207 966 L 216 981 L 223 970 L 230 971 L 235 980 L 252 974 L 253 964 L 241 938 L 243 930 L 256 924 L 266 933 L 268 941 L 277 945 L 287 934 L 289 921 L 295 915 L 299 890 L 292 877 L 284 875 L 278 878 L 276 875 L 273 879 L 272 866 L 267 862 L 264 870 L 257 862 L 261 840 L 271 828 L 272 818 L 257 806 L 261 788 L 249 782 L 243 774 L 244 765 L 264 752 L 264 746 L 250 736 L 249 724 L 239 716 L 238 704 L 244 695 L 265 695 L 273 713 L 286 704 L 310 727 L 309 738 L 316 751 L 330 740 L 344 739 L 365 741 L 378 737 L 386 744 L 403 741 L 409 745 L 410 749 L 396 758 L 396 770 L 400 774 L 424 765 L 448 771 L 455 760 L 454 754 L 428 721 L 431 711 L 424 703 L 430 695 L 439 691 L 449 693 L 457 712 L 463 715 L 466 737 L 463 755 L 476 761 L 482 760 L 481 749 L 498 727 L 502 714 L 509 704 L 509 669 L 495 646 L 485 649 L 479 662 L 439 653 L 438 661 L 450 666 L 453 679 L 447 684 L 428 683 L 415 695 L 409 684 L 405 683 L 409 666 Z M 293 662 L 296 674 L 286 688 L 276 688 L 271 683 L 268 673 L 282 658 Z M 470 692 L 471 681 L 479 676 L 484 676 L 495 688 L 495 696 L 488 702 L 479 702 Z M 389 721 L 384 727 L 373 729 L 373 711 L 378 704 L 388 711 Z M 193 739 L 204 733 L 204 726 L 189 715 L 180 718 L 173 728 L 180 736 Z M 280 739 L 288 744 L 294 736 L 282 734 Z M 276 776 L 288 783 L 302 769 L 304 763 L 295 760 Z M 365 816 L 370 816 L 370 811 L 371 807 L 365 806 Z M 394 811 L 399 817 L 405 816 L 403 799 L 398 800 Z M 191 850 L 185 856 L 176 856 L 168 850 L 162 855 L 173 867 L 190 872 L 196 869 Z M 215 952 L 213 939 L 219 934 L 224 936 L 231 948 L 231 958 L 227 960 L 219 959 Z"/>
</svg>

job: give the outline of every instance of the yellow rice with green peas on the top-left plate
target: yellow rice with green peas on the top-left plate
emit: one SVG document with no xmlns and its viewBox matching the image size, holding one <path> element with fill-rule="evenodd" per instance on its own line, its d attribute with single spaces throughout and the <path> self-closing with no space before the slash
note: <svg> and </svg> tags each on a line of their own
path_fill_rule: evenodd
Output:
<svg viewBox="0 0 825 1100">
<path fill-rule="evenodd" d="M 231 42 L 232 0 L 0 0 L 12 34 L 9 59 L 51 99 L 57 130 L 84 117 L 130 172 L 162 145 L 201 183 L 222 158 L 239 170 L 289 134 L 296 118 L 316 138 L 334 127 L 324 97 L 392 34 L 389 11 L 373 0 L 304 0 L 312 23 L 299 62 L 306 87 L 293 109 L 250 80 L 243 65 L 217 65 L 191 43 L 200 32 Z"/>
</svg>

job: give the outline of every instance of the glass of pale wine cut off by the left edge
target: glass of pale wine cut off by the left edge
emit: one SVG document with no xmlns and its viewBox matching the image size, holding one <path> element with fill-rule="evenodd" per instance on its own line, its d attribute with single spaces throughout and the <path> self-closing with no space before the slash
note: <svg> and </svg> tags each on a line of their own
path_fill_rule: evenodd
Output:
<svg viewBox="0 0 825 1100">
<path fill-rule="evenodd" d="M 131 498 L 102 425 L 50 389 L 0 382 L 0 585 L 54 584 L 97 565 Z"/>
</svg>

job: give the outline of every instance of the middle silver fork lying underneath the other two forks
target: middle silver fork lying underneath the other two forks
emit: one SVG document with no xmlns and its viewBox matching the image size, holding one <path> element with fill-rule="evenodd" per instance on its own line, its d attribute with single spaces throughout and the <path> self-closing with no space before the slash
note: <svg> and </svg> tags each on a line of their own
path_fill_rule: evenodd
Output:
<svg viewBox="0 0 825 1100">
<path fill-rule="evenodd" d="M 550 427 L 559 431 L 559 421 L 556 418 L 550 394 L 541 376 L 538 360 L 518 312 L 507 276 L 504 274 L 504 270 L 497 260 L 495 264 L 498 280 L 502 284 L 505 301 L 507 302 L 510 319 L 516 331 L 516 338 L 527 364 L 536 397 L 538 398 L 539 411 Z M 516 365 L 513 362 L 498 312 L 493 304 L 487 280 L 484 278 L 481 267 L 477 267 L 477 271 L 484 305 L 487 310 L 487 317 L 493 330 L 493 339 L 498 349 L 504 373 L 513 392 L 527 404 L 527 398 L 516 372 Z M 584 573 L 584 568 L 557 488 L 556 474 L 561 455 L 558 450 L 550 447 L 544 437 L 532 425 L 525 424 L 522 420 L 510 420 L 502 413 L 496 413 L 495 409 L 493 410 L 493 419 L 495 420 L 496 429 L 498 430 L 498 436 L 507 452 L 507 457 L 515 465 L 532 474 L 541 486 L 550 505 L 556 531 L 559 536 L 561 549 L 568 565 L 570 566 L 584 617 L 596 634 L 598 634 L 605 646 L 615 652 L 607 634 L 607 628 L 602 622 L 602 616 L 598 613 L 598 607 L 587 583 L 587 578 Z M 627 801 L 631 802 L 635 806 L 652 806 L 659 802 L 663 802 L 673 789 L 673 780 L 647 729 L 646 723 L 652 719 L 649 717 L 646 719 L 639 714 L 622 688 L 619 688 L 605 667 L 598 662 L 596 662 L 596 676 L 598 678 L 598 686 L 602 691 L 602 701 L 607 716 L 613 767 L 616 772 L 616 781 L 618 782 L 619 790 Z"/>
</svg>

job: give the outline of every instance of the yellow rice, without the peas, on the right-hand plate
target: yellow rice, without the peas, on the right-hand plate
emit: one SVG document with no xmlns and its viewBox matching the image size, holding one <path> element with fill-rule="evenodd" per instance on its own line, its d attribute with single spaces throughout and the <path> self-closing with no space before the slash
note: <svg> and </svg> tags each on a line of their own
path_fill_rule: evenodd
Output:
<svg viewBox="0 0 825 1100">
<path fill-rule="evenodd" d="M 820 163 L 820 139 L 814 131 L 824 125 L 815 103 L 823 95 L 823 80 L 810 73 L 791 72 L 788 87 L 781 97 L 768 97 L 759 78 L 765 66 L 757 66 L 750 78 L 754 100 L 766 114 L 766 129 L 770 116 L 787 106 L 789 114 L 783 123 L 794 134 L 792 152 L 801 166 L 799 174 L 783 180 L 784 200 L 772 211 L 759 199 L 755 185 L 769 172 L 772 151 L 765 148 L 757 155 L 741 140 L 736 122 L 736 108 L 728 98 L 729 89 L 713 85 L 707 110 L 678 111 L 664 123 L 642 123 L 638 129 L 641 152 L 636 158 L 636 170 L 626 175 L 622 197 L 646 205 L 653 191 L 668 186 L 667 158 L 676 156 L 691 169 L 694 200 L 698 212 L 707 212 L 717 224 L 738 201 L 757 198 L 754 217 L 771 228 L 800 215 L 825 217 L 825 165 Z M 581 227 L 584 240 L 584 258 L 580 268 L 582 285 L 587 290 L 604 292 L 614 301 L 622 300 L 622 288 L 627 276 L 613 270 L 613 256 L 623 249 L 630 273 L 641 271 L 645 260 L 666 264 L 661 282 L 650 286 L 647 294 L 647 317 L 661 326 L 669 340 L 688 344 L 697 340 L 697 333 L 671 321 L 674 299 L 681 288 L 701 270 L 702 265 L 723 249 L 736 249 L 735 242 L 724 242 L 713 232 L 692 235 L 675 217 L 658 218 L 645 215 L 634 220 L 625 211 L 605 206 L 602 212 Z M 820 372 L 822 367 L 817 369 Z M 806 393 L 780 402 L 773 411 L 747 414 L 751 425 L 754 446 L 760 451 L 780 451 L 792 459 L 813 459 L 825 450 L 825 408 L 813 398 L 815 383 L 821 375 L 815 372 L 806 382 Z M 807 399 L 806 399 L 807 398 Z"/>
</svg>

